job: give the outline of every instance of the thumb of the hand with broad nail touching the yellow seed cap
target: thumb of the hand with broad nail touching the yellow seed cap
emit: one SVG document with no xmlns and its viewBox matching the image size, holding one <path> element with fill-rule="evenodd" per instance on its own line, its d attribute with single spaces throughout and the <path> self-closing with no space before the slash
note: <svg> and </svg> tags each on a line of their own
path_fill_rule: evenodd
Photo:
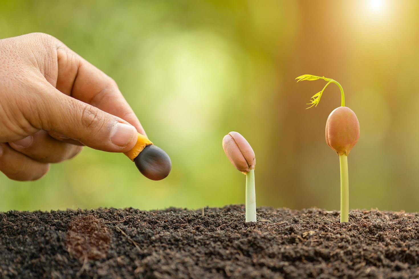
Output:
<svg viewBox="0 0 419 279">
<path fill-rule="evenodd" d="M 38 115 L 43 130 L 72 138 L 85 146 L 108 152 L 127 152 L 137 142 L 137 130 L 127 121 L 85 102 L 62 94 L 55 88 Z M 45 100 L 45 99 L 44 99 Z"/>
</svg>

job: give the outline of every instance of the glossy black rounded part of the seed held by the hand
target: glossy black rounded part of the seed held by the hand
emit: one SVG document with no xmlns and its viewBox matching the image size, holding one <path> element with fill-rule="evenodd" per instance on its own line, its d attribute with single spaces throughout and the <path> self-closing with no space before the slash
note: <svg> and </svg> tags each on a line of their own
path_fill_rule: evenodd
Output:
<svg viewBox="0 0 419 279">
<path fill-rule="evenodd" d="M 134 163 L 142 175 L 151 180 L 166 178 L 172 169 L 170 157 L 155 145 L 146 146 L 134 159 Z"/>
</svg>

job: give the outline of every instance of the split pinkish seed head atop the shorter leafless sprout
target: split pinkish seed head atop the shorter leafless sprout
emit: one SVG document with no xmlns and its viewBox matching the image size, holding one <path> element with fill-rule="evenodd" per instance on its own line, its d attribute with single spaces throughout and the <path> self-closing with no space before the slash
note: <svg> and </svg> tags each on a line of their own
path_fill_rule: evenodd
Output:
<svg viewBox="0 0 419 279">
<path fill-rule="evenodd" d="M 255 153 L 246 138 L 230 132 L 222 139 L 222 148 L 231 164 L 241 172 L 249 172 L 256 166 Z"/>
</svg>

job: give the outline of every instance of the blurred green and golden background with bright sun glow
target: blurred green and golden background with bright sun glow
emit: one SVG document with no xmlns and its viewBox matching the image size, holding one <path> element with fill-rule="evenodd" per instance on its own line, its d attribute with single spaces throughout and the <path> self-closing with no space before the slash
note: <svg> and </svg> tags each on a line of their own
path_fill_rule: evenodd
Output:
<svg viewBox="0 0 419 279">
<path fill-rule="evenodd" d="M 113 77 L 173 169 L 154 182 L 85 148 L 36 182 L 0 174 L 0 211 L 243 203 L 245 176 L 221 146 L 230 131 L 256 153 L 258 206 L 339 209 L 324 139 L 339 89 L 305 110 L 325 82 L 300 74 L 339 81 L 360 121 L 350 208 L 419 211 L 418 15 L 407 0 L 1 0 L 0 38 L 49 33 Z"/>
</svg>

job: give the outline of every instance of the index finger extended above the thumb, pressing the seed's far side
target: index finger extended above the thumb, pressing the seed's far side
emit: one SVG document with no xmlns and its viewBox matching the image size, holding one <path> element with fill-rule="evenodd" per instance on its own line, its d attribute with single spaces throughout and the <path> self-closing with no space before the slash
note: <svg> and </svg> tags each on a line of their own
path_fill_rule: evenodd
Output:
<svg viewBox="0 0 419 279">
<path fill-rule="evenodd" d="M 61 42 L 58 44 L 56 88 L 82 102 L 126 120 L 139 133 L 146 135 L 140 121 L 114 80 Z"/>
</svg>

